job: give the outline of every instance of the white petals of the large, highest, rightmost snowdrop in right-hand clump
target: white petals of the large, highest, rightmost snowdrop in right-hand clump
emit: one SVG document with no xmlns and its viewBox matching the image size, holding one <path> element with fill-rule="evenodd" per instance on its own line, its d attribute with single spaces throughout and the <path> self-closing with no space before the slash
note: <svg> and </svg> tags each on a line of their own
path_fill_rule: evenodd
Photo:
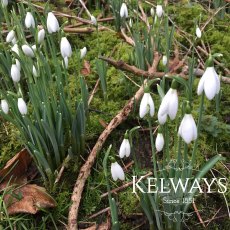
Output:
<svg viewBox="0 0 230 230">
<path fill-rule="evenodd" d="M 203 91 L 208 100 L 212 100 L 220 92 L 220 79 L 213 66 L 206 68 L 199 81 L 197 94 L 201 95 Z"/>
</svg>

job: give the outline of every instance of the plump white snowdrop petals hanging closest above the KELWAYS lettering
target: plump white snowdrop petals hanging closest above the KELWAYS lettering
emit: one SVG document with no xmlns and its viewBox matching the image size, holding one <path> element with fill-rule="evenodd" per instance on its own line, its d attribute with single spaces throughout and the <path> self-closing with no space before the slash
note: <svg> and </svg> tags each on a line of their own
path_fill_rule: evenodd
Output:
<svg viewBox="0 0 230 230">
<path fill-rule="evenodd" d="M 179 127 L 178 134 L 187 144 L 197 139 L 197 127 L 191 114 L 186 113 L 184 115 Z"/>
</svg>

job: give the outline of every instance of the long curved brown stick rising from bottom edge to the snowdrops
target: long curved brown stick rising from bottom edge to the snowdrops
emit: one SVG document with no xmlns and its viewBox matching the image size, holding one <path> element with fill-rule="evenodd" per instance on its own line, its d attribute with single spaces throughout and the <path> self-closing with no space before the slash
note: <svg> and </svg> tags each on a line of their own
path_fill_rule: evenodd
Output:
<svg viewBox="0 0 230 230">
<path fill-rule="evenodd" d="M 135 96 L 129 100 L 129 102 L 125 105 L 125 107 L 110 121 L 109 125 L 106 129 L 101 133 L 98 138 L 95 146 L 93 147 L 91 153 L 89 154 L 88 159 L 81 167 L 80 172 L 78 174 L 77 181 L 74 185 L 73 194 L 71 196 L 72 204 L 69 209 L 68 216 L 68 229 L 76 230 L 77 229 L 77 217 L 78 217 L 78 209 L 81 201 L 82 191 L 84 189 L 85 182 L 90 175 L 91 168 L 96 159 L 97 153 L 101 150 L 103 144 L 105 143 L 107 137 L 110 133 L 124 120 L 127 119 L 130 112 L 133 110 L 134 103 L 137 103 L 144 93 L 144 87 L 142 86 L 136 92 Z"/>
</svg>

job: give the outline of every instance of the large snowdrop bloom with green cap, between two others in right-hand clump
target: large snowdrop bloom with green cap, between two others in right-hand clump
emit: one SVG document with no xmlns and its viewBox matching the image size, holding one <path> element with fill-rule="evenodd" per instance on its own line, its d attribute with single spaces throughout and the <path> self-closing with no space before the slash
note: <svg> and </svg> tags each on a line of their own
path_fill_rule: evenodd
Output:
<svg viewBox="0 0 230 230">
<path fill-rule="evenodd" d="M 158 111 L 158 121 L 161 125 L 163 125 L 166 122 L 167 116 L 169 116 L 171 120 L 174 120 L 176 117 L 178 110 L 178 95 L 176 85 L 176 81 L 173 80 L 171 88 L 168 90 L 168 92 L 162 99 Z"/>
</svg>

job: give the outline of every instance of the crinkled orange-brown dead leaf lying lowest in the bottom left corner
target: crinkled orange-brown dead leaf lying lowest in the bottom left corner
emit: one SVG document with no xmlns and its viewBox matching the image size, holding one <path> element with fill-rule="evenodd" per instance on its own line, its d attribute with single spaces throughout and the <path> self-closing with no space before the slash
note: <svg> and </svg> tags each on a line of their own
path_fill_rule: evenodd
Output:
<svg viewBox="0 0 230 230">
<path fill-rule="evenodd" d="M 55 200 L 45 188 L 36 184 L 26 184 L 5 192 L 4 202 L 9 215 L 17 213 L 36 214 L 40 208 L 53 208 Z"/>
</svg>

